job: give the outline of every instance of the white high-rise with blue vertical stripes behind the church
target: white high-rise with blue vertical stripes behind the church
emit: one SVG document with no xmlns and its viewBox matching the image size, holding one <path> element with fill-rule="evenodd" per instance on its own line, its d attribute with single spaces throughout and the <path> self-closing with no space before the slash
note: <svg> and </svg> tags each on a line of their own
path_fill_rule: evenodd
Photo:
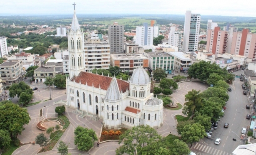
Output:
<svg viewBox="0 0 256 155">
<path fill-rule="evenodd" d="M 154 37 L 158 37 L 158 26 L 148 26 L 148 23 L 143 23 L 143 26 L 136 27 L 136 44 L 153 45 Z"/>
</svg>

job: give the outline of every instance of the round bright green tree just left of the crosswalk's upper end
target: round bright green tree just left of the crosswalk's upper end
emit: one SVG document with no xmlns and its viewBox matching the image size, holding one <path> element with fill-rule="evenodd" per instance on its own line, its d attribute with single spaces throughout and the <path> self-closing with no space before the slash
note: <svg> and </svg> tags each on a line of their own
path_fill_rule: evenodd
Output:
<svg viewBox="0 0 256 155">
<path fill-rule="evenodd" d="M 181 138 L 184 142 L 190 143 L 191 147 L 193 143 L 199 142 L 201 138 L 206 135 L 204 127 L 199 123 L 192 125 L 185 125 L 183 132 L 181 132 Z"/>
</svg>

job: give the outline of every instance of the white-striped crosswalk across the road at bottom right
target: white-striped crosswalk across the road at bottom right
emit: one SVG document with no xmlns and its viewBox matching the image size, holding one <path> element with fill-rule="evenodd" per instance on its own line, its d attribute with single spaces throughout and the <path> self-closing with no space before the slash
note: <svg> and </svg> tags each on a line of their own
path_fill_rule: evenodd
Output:
<svg viewBox="0 0 256 155">
<path fill-rule="evenodd" d="M 193 149 L 203 152 L 204 154 L 208 155 L 232 155 L 231 153 L 226 153 L 223 150 L 218 150 L 216 148 L 212 148 L 210 146 L 207 145 L 203 145 L 200 143 L 196 143 L 196 145 L 194 145 Z M 197 155 L 201 155 L 202 153 L 198 152 Z"/>
</svg>

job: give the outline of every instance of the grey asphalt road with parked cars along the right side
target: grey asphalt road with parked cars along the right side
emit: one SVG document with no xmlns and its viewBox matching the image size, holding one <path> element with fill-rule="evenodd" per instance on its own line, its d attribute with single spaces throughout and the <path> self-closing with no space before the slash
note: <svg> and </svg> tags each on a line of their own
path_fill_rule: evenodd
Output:
<svg viewBox="0 0 256 155">
<path fill-rule="evenodd" d="M 242 74 L 242 71 L 234 74 Z M 201 142 L 192 146 L 192 150 L 195 150 L 198 155 L 231 155 L 238 145 L 242 145 L 238 140 L 240 140 L 241 129 L 247 128 L 250 123 L 250 120 L 246 119 L 246 114 L 250 113 L 250 110 L 245 108 L 249 102 L 247 96 L 243 95 L 241 84 L 243 84 L 242 81 L 235 78 L 233 85 L 230 86 L 232 91 L 228 91 L 229 100 L 224 110 L 225 116 L 218 122 L 218 128 L 213 131 L 212 137 L 203 138 Z M 229 124 L 228 128 L 223 128 L 224 123 Z M 221 138 L 220 145 L 214 144 L 216 138 Z M 233 141 L 232 138 L 237 141 Z"/>
</svg>

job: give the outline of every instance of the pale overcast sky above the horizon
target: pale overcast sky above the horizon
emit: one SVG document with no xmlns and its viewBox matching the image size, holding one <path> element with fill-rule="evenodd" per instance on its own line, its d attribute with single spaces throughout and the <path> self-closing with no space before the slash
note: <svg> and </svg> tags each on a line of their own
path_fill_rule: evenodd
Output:
<svg viewBox="0 0 256 155">
<path fill-rule="evenodd" d="M 0 15 L 177 14 L 256 17 L 255 0 L 1 0 Z"/>
</svg>

